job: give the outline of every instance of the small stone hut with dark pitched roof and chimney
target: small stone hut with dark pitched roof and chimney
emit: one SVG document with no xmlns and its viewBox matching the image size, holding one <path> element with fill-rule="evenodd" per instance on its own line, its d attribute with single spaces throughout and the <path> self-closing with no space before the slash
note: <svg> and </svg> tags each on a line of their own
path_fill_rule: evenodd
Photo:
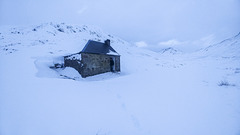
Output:
<svg viewBox="0 0 240 135">
<path fill-rule="evenodd" d="M 81 52 L 64 56 L 64 66 L 76 69 L 84 78 L 120 72 L 120 55 L 110 46 L 109 39 L 104 43 L 89 40 Z"/>
</svg>

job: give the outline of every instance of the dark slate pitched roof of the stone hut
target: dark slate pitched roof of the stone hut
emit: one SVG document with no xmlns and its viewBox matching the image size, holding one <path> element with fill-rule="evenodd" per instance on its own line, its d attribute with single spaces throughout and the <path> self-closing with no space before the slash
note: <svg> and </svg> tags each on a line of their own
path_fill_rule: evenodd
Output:
<svg viewBox="0 0 240 135">
<path fill-rule="evenodd" d="M 81 53 L 119 55 L 110 45 L 93 40 L 88 40 Z"/>
</svg>

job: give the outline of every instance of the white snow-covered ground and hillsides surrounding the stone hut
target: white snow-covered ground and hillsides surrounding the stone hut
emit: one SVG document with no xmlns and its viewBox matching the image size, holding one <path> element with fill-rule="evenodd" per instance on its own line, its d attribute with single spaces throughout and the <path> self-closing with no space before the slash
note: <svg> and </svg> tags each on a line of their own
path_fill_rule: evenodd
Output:
<svg viewBox="0 0 240 135">
<path fill-rule="evenodd" d="M 120 73 L 49 68 L 89 39 L 111 40 Z M 1 27 L 0 134 L 240 134 L 240 35 L 191 54 L 167 51 L 86 25 Z"/>
</svg>

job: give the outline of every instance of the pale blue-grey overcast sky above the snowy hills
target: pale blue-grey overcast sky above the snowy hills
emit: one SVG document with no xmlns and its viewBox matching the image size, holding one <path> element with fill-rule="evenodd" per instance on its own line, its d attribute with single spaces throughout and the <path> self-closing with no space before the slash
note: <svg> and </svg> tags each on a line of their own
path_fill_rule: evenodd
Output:
<svg viewBox="0 0 240 135">
<path fill-rule="evenodd" d="M 215 40 L 240 31 L 240 0 L 0 0 L 0 25 L 91 24 L 130 42 Z"/>
</svg>

